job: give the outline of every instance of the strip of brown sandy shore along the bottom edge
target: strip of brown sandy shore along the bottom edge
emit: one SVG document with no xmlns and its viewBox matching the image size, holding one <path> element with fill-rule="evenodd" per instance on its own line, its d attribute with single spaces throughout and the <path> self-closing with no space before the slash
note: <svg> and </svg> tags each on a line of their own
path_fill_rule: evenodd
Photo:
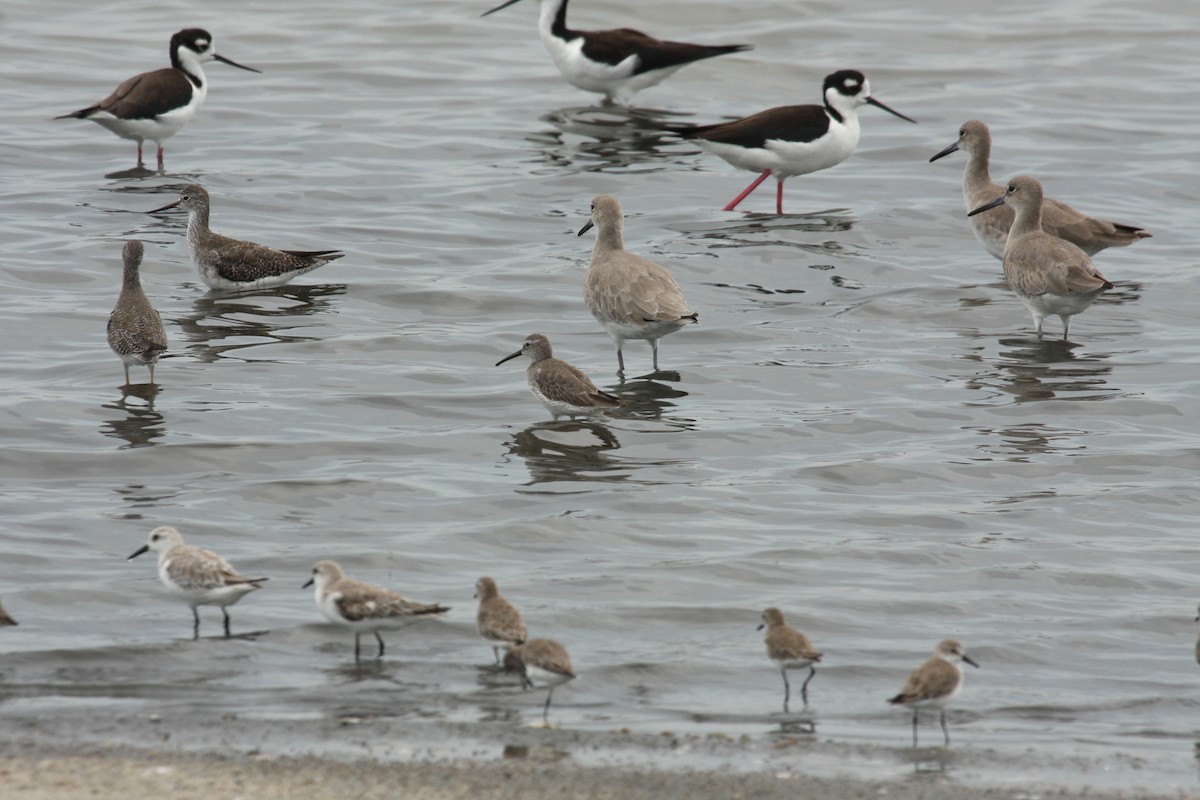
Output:
<svg viewBox="0 0 1200 800">
<path fill-rule="evenodd" d="M 977 788 L 938 776 L 900 781 L 824 778 L 790 771 L 718 772 L 625 766 L 583 766 L 569 759 L 521 753 L 496 760 L 383 763 L 326 758 L 262 757 L 95 746 L 52 751 L 42 745 L 0 748 L 6 800 L 84 798 L 254 798 L 355 800 L 406 798 L 787 798 L 790 800 L 1030 800 L 1031 798 L 1139 798 L 1144 792 L 1037 787 Z M 1183 794 L 1157 795 L 1182 798 Z"/>
</svg>

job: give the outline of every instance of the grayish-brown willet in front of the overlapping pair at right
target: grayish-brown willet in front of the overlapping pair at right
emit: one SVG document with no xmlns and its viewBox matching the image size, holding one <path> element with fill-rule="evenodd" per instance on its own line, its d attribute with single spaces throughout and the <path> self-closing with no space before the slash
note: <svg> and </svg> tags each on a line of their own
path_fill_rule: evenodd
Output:
<svg viewBox="0 0 1200 800">
<path fill-rule="evenodd" d="M 1042 338 L 1042 320 L 1057 314 L 1062 319 L 1062 339 L 1066 342 L 1070 318 L 1111 289 L 1112 283 L 1100 275 L 1087 253 L 1042 230 L 1043 193 L 1042 184 L 1036 178 L 1014 178 L 1003 194 L 967 216 L 1001 204 L 1013 206 L 1016 212 L 1004 243 L 1008 285 L 1033 315 L 1038 338 Z"/>
</svg>

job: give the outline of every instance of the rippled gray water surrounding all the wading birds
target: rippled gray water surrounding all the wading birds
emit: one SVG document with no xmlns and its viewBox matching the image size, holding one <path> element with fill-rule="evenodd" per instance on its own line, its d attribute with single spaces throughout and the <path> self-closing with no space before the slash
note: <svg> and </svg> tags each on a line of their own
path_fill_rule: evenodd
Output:
<svg viewBox="0 0 1200 800">
<path fill-rule="evenodd" d="M 756 47 L 630 118 L 559 79 L 534 0 L 487 19 L 461 0 L 102 5 L 17 0 L 0 22 L 0 593 L 22 621 L 0 718 L 80 738 L 166 710 L 520 726 L 541 693 L 478 668 L 486 573 L 571 650 L 568 730 L 768 741 L 781 686 L 755 626 L 778 604 L 827 654 L 818 739 L 866 753 L 814 769 L 911 770 L 883 700 L 955 636 L 982 664 L 958 751 L 1028 756 L 1021 780 L 1195 788 L 1193 5 L 580 0 L 580 28 Z M 168 175 L 106 179 L 133 143 L 50 118 L 163 66 L 184 25 L 264 74 L 210 65 Z M 919 125 L 864 109 L 859 151 L 790 180 L 788 216 L 761 213 L 769 186 L 720 211 L 751 175 L 654 132 L 816 102 L 842 67 Z M 971 118 L 997 179 L 1153 231 L 1096 259 L 1118 289 L 1072 344 L 1032 337 L 971 235 L 964 158 L 928 163 Z M 222 233 L 348 255 L 210 295 L 182 216 L 143 213 L 190 181 Z M 662 342 L 677 377 L 619 385 L 583 306 L 593 237 L 574 234 L 601 192 L 701 314 Z M 157 387 L 122 390 L 104 321 L 134 236 L 170 355 Z M 532 331 L 628 413 L 550 423 L 523 361 L 492 367 Z M 644 343 L 625 355 L 648 372 Z M 152 561 L 125 561 L 157 524 L 271 576 L 232 609 L 266 633 L 188 642 Z M 355 669 L 299 588 L 323 558 L 454 610 Z"/>
</svg>

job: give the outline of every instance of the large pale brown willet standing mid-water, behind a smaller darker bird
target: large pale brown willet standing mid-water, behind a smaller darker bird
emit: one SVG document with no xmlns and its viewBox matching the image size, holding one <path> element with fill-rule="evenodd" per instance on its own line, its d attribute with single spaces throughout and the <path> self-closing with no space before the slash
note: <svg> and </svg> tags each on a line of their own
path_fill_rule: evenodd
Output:
<svg viewBox="0 0 1200 800">
<path fill-rule="evenodd" d="M 618 374 L 625 374 L 625 339 L 648 339 L 659 371 L 659 339 L 700 321 L 667 269 L 625 249 L 620 203 L 612 194 L 592 200 L 592 218 L 578 235 L 596 229 L 592 260 L 583 275 L 583 299 L 617 344 Z"/>
</svg>

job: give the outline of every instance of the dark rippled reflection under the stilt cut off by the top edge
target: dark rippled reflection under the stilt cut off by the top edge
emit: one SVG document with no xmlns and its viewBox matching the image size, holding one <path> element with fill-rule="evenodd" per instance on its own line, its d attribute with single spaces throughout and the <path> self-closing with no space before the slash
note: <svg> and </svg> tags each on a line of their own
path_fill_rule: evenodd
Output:
<svg viewBox="0 0 1200 800">
<path fill-rule="evenodd" d="M 659 172 L 682 162 L 679 140 L 664 130 L 670 112 L 646 108 L 560 108 L 541 118 L 554 126 L 529 137 L 542 160 L 576 172 Z M 661 164 L 661 166 L 660 166 Z"/>
</svg>

